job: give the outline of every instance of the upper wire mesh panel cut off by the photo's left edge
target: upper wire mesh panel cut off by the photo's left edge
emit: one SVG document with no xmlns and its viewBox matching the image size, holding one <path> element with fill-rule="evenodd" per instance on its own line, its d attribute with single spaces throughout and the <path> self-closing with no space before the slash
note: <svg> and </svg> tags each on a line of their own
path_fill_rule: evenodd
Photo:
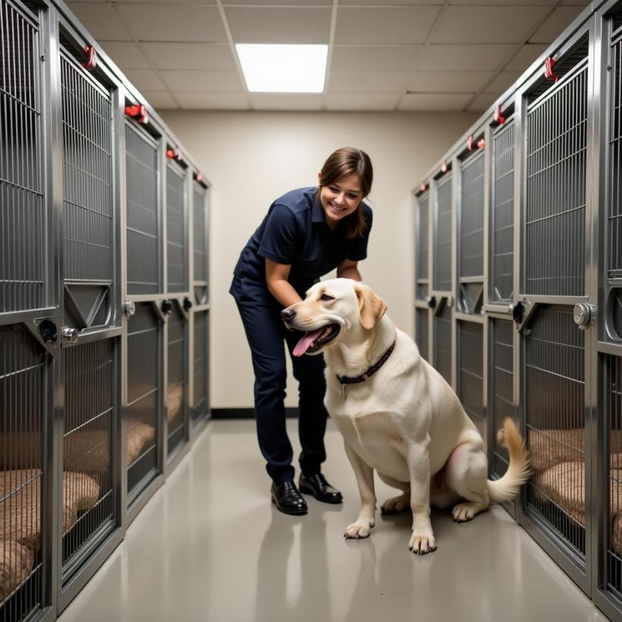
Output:
<svg viewBox="0 0 622 622">
<path fill-rule="evenodd" d="M 39 25 L 0 0 L 0 313 L 46 306 Z"/>
</svg>

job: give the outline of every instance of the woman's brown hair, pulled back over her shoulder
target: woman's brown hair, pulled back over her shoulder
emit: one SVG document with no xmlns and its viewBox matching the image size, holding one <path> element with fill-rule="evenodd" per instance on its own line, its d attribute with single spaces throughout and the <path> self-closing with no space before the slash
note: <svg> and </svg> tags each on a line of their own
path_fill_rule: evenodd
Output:
<svg viewBox="0 0 622 622">
<path fill-rule="evenodd" d="M 319 189 L 322 186 L 330 186 L 350 175 L 356 175 L 361 180 L 361 192 L 363 193 L 363 198 L 366 198 L 371 191 L 374 179 L 374 169 L 372 168 L 371 160 L 367 153 L 361 151 L 361 149 L 342 147 L 331 153 L 328 156 L 328 160 L 324 162 L 324 166 L 320 171 L 316 198 L 319 199 Z M 346 225 L 346 238 L 362 236 L 367 223 L 363 216 L 361 205 L 350 216 L 343 218 L 343 222 Z"/>
</svg>

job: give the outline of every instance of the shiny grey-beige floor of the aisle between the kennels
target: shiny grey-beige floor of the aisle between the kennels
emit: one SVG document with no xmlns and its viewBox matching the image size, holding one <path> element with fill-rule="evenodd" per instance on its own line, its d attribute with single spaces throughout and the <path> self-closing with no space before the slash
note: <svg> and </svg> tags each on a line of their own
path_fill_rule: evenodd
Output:
<svg viewBox="0 0 622 622">
<path fill-rule="evenodd" d="M 408 551 L 408 513 L 343 540 L 357 487 L 330 424 L 326 446 L 343 505 L 309 498 L 306 516 L 285 516 L 254 422 L 212 422 L 59 621 L 606 620 L 501 507 L 462 525 L 435 513 L 438 549 L 424 557 Z M 379 502 L 391 495 L 377 480 Z"/>
</svg>

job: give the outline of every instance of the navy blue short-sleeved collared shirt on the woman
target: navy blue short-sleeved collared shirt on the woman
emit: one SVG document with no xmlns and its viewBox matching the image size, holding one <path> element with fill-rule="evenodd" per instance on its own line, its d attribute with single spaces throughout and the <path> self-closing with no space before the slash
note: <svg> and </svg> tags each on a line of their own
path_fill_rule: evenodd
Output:
<svg viewBox="0 0 622 622">
<path fill-rule="evenodd" d="M 331 231 L 321 202 L 315 198 L 316 191 L 317 187 L 292 190 L 270 205 L 263 222 L 241 252 L 234 270 L 236 277 L 265 284 L 267 258 L 291 265 L 288 281 L 301 293 L 346 259 L 366 258 L 371 207 L 363 202 L 359 207 L 367 223 L 364 234 L 346 238 L 345 219 Z"/>
</svg>

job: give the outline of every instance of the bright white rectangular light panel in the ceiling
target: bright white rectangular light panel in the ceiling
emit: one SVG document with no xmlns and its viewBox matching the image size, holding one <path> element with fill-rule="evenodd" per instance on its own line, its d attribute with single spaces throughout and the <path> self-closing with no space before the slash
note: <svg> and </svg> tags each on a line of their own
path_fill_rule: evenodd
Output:
<svg viewBox="0 0 622 622">
<path fill-rule="evenodd" d="M 251 93 L 321 93 L 328 46 L 236 44 Z"/>
</svg>

